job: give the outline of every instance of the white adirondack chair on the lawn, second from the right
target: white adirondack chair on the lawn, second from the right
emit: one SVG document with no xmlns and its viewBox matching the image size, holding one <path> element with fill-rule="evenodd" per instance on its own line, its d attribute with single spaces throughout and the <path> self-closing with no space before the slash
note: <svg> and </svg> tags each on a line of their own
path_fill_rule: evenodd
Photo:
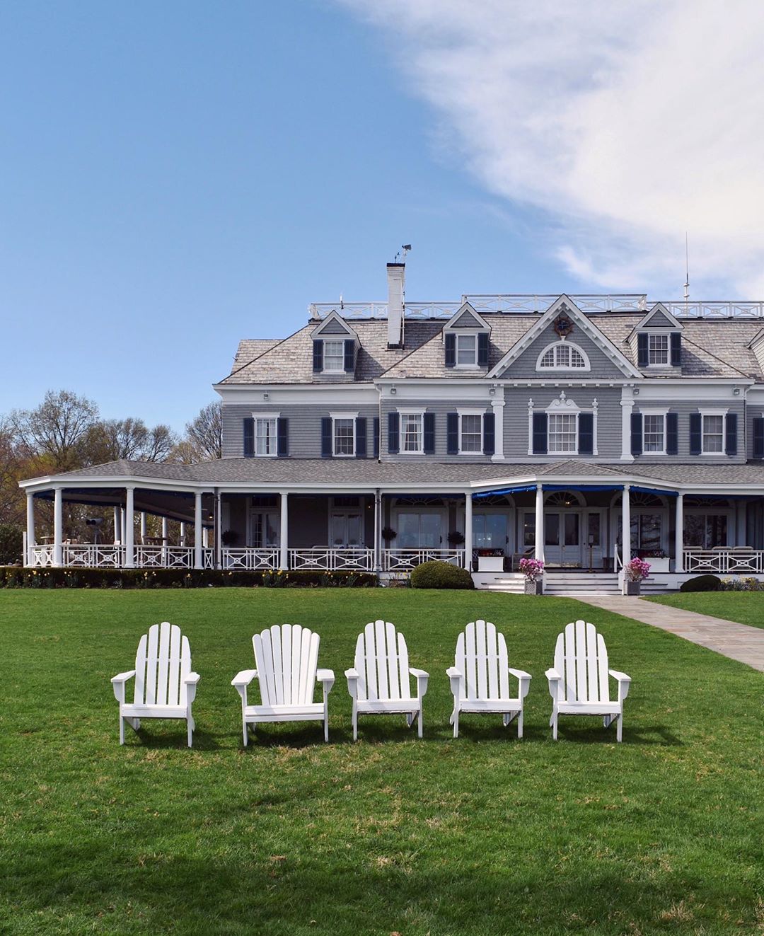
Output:
<svg viewBox="0 0 764 936">
<path fill-rule="evenodd" d="M 460 712 L 500 714 L 505 727 L 517 718 L 518 738 L 522 738 L 522 701 L 528 695 L 531 674 L 509 666 L 507 642 L 491 622 L 467 624 L 456 641 L 454 665 L 446 673 L 454 697 L 450 719 L 454 738 L 459 738 Z M 517 695 L 509 695 L 509 676 L 518 680 Z"/>
</svg>

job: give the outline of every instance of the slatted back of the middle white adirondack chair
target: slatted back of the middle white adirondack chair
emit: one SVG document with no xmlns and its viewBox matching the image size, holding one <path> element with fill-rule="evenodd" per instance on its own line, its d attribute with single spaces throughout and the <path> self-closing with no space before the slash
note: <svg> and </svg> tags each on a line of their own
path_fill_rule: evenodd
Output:
<svg viewBox="0 0 764 936">
<path fill-rule="evenodd" d="M 355 668 L 361 701 L 410 699 L 408 648 L 390 622 L 368 623 L 356 641 Z"/>
</svg>

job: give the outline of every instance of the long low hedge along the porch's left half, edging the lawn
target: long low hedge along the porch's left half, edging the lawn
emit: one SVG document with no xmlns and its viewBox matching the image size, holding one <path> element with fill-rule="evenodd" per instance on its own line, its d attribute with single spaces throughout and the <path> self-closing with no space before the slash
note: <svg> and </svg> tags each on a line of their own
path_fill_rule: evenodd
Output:
<svg viewBox="0 0 764 936">
<path fill-rule="evenodd" d="M 371 572 L 244 572 L 225 569 L 25 569 L 0 567 L 0 588 L 371 588 Z"/>
</svg>

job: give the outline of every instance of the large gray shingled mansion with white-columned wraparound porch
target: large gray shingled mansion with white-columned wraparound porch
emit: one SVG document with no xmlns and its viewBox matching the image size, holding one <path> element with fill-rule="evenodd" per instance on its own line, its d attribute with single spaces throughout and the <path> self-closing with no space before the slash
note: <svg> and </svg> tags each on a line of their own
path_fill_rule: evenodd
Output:
<svg viewBox="0 0 764 936">
<path fill-rule="evenodd" d="M 407 302 L 392 263 L 387 302 L 311 305 L 287 338 L 239 344 L 214 386 L 220 461 L 22 482 L 27 563 L 386 576 L 441 558 L 512 588 L 536 555 L 548 591 L 615 588 L 634 556 L 661 588 L 764 573 L 762 326 L 758 302 Z M 69 542 L 66 502 L 113 505 L 113 543 Z M 177 542 L 144 542 L 146 513 L 182 521 Z"/>
</svg>

